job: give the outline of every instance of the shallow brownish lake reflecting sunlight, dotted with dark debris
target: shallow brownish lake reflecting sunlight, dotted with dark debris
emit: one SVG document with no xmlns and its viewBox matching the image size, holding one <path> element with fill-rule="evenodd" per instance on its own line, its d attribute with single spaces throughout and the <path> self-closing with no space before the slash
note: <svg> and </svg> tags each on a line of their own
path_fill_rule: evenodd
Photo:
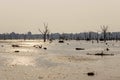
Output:
<svg viewBox="0 0 120 80">
<path fill-rule="evenodd" d="M 0 76 L 0 80 L 120 80 L 120 42 L 0 40 Z"/>
</svg>

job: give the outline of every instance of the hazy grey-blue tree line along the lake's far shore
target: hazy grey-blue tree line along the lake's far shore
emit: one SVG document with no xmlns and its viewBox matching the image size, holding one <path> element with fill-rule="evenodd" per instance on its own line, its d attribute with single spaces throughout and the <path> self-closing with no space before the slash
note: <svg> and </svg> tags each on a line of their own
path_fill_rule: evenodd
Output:
<svg viewBox="0 0 120 80">
<path fill-rule="evenodd" d="M 46 34 L 45 34 L 46 35 Z M 18 34 L 15 32 L 12 33 L 4 33 L 0 34 L 1 40 L 7 39 L 43 39 L 43 34 L 32 34 L 28 32 L 27 34 Z M 120 32 L 82 32 L 82 33 L 50 33 L 45 37 L 46 40 L 99 40 L 99 41 L 107 41 L 107 40 L 120 40 Z"/>
</svg>

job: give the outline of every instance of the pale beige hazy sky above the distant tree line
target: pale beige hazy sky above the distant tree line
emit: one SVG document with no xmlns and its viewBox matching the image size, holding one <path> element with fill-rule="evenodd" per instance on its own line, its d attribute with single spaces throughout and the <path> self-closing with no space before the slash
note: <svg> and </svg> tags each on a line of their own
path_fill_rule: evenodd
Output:
<svg viewBox="0 0 120 80">
<path fill-rule="evenodd" d="M 120 0 L 0 0 L 0 33 L 120 31 Z"/>
</svg>

